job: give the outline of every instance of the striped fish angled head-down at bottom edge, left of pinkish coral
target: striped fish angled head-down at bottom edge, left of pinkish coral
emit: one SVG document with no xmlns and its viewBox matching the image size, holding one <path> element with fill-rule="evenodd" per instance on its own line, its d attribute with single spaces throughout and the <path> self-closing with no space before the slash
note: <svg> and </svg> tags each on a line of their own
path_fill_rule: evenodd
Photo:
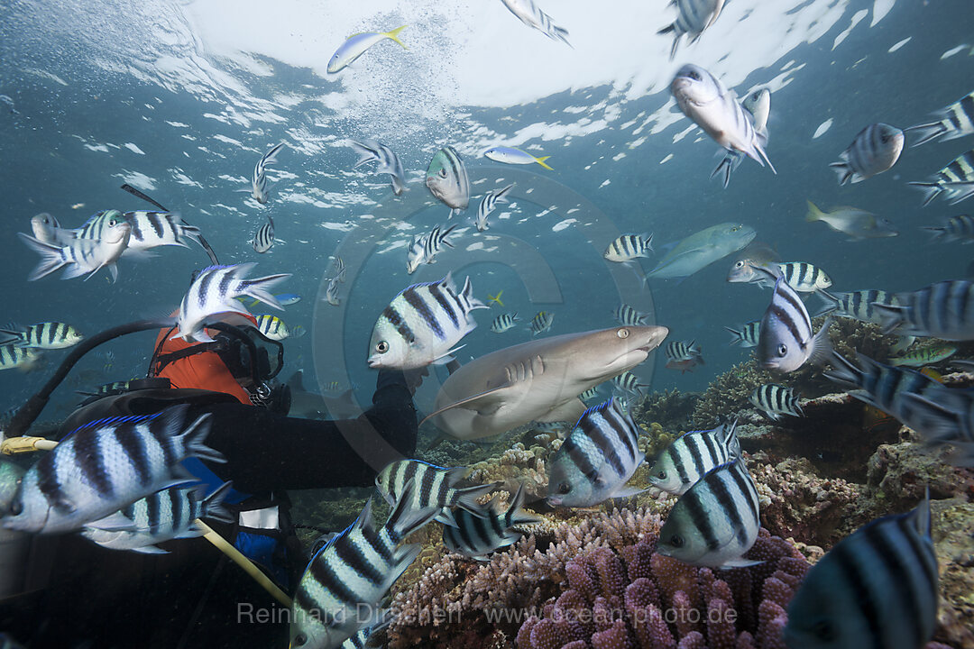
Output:
<svg viewBox="0 0 974 649">
<path fill-rule="evenodd" d="M 403 539 L 430 523 L 434 508 L 415 510 L 407 484 L 389 520 L 376 529 L 369 498 L 352 523 L 308 563 L 291 605 L 290 646 L 336 649 L 357 631 L 381 624 L 379 601 L 420 553 Z M 362 614 L 362 609 L 371 615 Z"/>
</svg>

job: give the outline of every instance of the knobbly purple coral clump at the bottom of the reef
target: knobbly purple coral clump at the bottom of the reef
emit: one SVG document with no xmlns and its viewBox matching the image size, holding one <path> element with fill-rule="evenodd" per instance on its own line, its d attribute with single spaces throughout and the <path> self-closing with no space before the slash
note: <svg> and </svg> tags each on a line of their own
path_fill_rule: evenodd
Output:
<svg viewBox="0 0 974 649">
<path fill-rule="evenodd" d="M 783 649 L 786 609 L 808 563 L 762 530 L 748 568 L 714 571 L 657 555 L 644 538 L 565 565 L 563 592 L 517 633 L 518 649 Z"/>
</svg>

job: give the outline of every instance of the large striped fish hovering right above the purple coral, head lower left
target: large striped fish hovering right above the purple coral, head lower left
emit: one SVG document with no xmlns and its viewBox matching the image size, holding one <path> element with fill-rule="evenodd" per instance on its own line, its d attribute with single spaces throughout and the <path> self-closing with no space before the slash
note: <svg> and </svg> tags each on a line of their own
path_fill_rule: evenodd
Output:
<svg viewBox="0 0 974 649">
<path fill-rule="evenodd" d="M 659 530 L 656 552 L 714 568 L 760 563 L 744 559 L 758 539 L 759 506 L 751 474 L 734 456 L 680 496 Z"/>
</svg>

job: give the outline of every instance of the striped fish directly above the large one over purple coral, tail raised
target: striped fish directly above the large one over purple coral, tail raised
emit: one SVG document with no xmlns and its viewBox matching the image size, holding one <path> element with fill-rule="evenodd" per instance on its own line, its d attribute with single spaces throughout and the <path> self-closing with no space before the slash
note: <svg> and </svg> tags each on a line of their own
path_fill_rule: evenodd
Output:
<svg viewBox="0 0 974 649">
<path fill-rule="evenodd" d="M 713 430 L 692 430 L 673 440 L 656 455 L 650 467 L 650 484 L 683 495 L 711 469 L 740 455 L 737 421 Z"/>
</svg>

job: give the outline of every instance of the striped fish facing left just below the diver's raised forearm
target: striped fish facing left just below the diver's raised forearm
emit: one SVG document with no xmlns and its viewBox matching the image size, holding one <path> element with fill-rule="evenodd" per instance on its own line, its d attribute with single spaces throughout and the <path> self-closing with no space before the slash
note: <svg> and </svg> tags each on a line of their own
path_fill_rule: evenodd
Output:
<svg viewBox="0 0 974 649">
<path fill-rule="evenodd" d="M 466 474 L 466 466 L 449 468 L 418 459 L 400 459 L 379 472 L 375 477 L 375 487 L 386 502 L 392 505 L 412 481 L 413 499 L 407 505 L 414 510 L 435 508 L 440 512 L 436 517 L 437 521 L 452 522 L 449 516 L 441 516 L 444 509 L 460 507 L 479 513 L 477 498 L 499 487 L 497 483 L 491 483 L 458 488 L 457 484 Z"/>
</svg>

